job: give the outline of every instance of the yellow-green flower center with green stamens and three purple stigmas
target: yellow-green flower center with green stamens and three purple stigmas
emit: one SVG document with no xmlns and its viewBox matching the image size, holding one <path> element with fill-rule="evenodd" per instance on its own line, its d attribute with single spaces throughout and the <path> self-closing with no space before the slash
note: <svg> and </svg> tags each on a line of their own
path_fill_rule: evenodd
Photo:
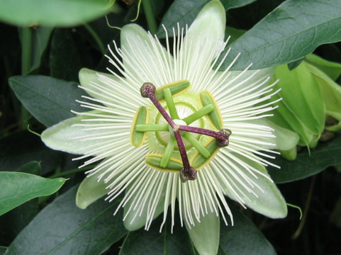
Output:
<svg viewBox="0 0 341 255">
<path fill-rule="evenodd" d="M 146 143 L 160 154 L 148 154 L 146 164 L 160 171 L 179 171 L 181 181 L 196 179 L 196 171 L 208 164 L 220 147 L 228 146 L 231 134 L 223 129 L 213 96 L 208 91 L 190 93 L 189 87 L 186 80 L 159 89 L 143 84 L 141 96 L 149 98 L 152 105 L 138 108 L 130 131 L 130 143 L 135 147 L 145 143 L 149 132 Z"/>
</svg>

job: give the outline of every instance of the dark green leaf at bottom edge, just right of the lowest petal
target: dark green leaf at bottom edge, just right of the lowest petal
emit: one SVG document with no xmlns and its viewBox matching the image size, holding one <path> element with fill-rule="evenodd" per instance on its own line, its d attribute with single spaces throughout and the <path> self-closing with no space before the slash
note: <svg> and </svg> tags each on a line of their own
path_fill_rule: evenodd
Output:
<svg viewBox="0 0 341 255">
<path fill-rule="evenodd" d="M 218 255 L 276 255 L 262 232 L 238 210 L 231 208 L 234 226 L 220 225 Z"/>
</svg>

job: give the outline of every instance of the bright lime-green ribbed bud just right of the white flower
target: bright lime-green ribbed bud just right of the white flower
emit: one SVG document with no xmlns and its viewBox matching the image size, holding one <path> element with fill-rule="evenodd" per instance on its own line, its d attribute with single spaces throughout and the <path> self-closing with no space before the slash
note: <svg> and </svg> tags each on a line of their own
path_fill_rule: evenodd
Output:
<svg viewBox="0 0 341 255">
<path fill-rule="evenodd" d="M 315 147 L 325 123 L 325 103 L 318 81 L 305 62 L 292 70 L 286 65 L 278 66 L 274 77 L 279 79 L 276 87 L 281 88 L 275 96 L 283 100 L 270 120 L 296 132 L 300 137 L 298 145 Z"/>
</svg>

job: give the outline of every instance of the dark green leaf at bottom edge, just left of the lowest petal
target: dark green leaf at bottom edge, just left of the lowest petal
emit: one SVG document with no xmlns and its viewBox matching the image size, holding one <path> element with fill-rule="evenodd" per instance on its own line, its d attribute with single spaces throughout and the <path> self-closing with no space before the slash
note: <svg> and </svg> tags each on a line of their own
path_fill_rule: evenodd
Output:
<svg viewBox="0 0 341 255">
<path fill-rule="evenodd" d="M 152 226 L 148 231 L 140 229 L 129 232 L 127 237 L 125 237 L 119 255 L 191 254 L 189 250 L 190 241 L 186 229 L 176 224 L 173 234 L 171 234 L 169 229 L 170 219 L 168 218 L 160 233 L 161 222 L 162 217 L 158 217 L 157 220 L 152 222 Z"/>
</svg>

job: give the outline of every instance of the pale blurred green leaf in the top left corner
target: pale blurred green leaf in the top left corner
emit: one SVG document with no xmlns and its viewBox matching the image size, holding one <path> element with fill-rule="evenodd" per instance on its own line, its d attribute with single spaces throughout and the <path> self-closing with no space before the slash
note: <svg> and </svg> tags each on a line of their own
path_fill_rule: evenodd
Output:
<svg viewBox="0 0 341 255">
<path fill-rule="evenodd" d="M 16 26 L 75 26 L 111 11 L 109 0 L 2 0 L 0 20 Z"/>
</svg>

